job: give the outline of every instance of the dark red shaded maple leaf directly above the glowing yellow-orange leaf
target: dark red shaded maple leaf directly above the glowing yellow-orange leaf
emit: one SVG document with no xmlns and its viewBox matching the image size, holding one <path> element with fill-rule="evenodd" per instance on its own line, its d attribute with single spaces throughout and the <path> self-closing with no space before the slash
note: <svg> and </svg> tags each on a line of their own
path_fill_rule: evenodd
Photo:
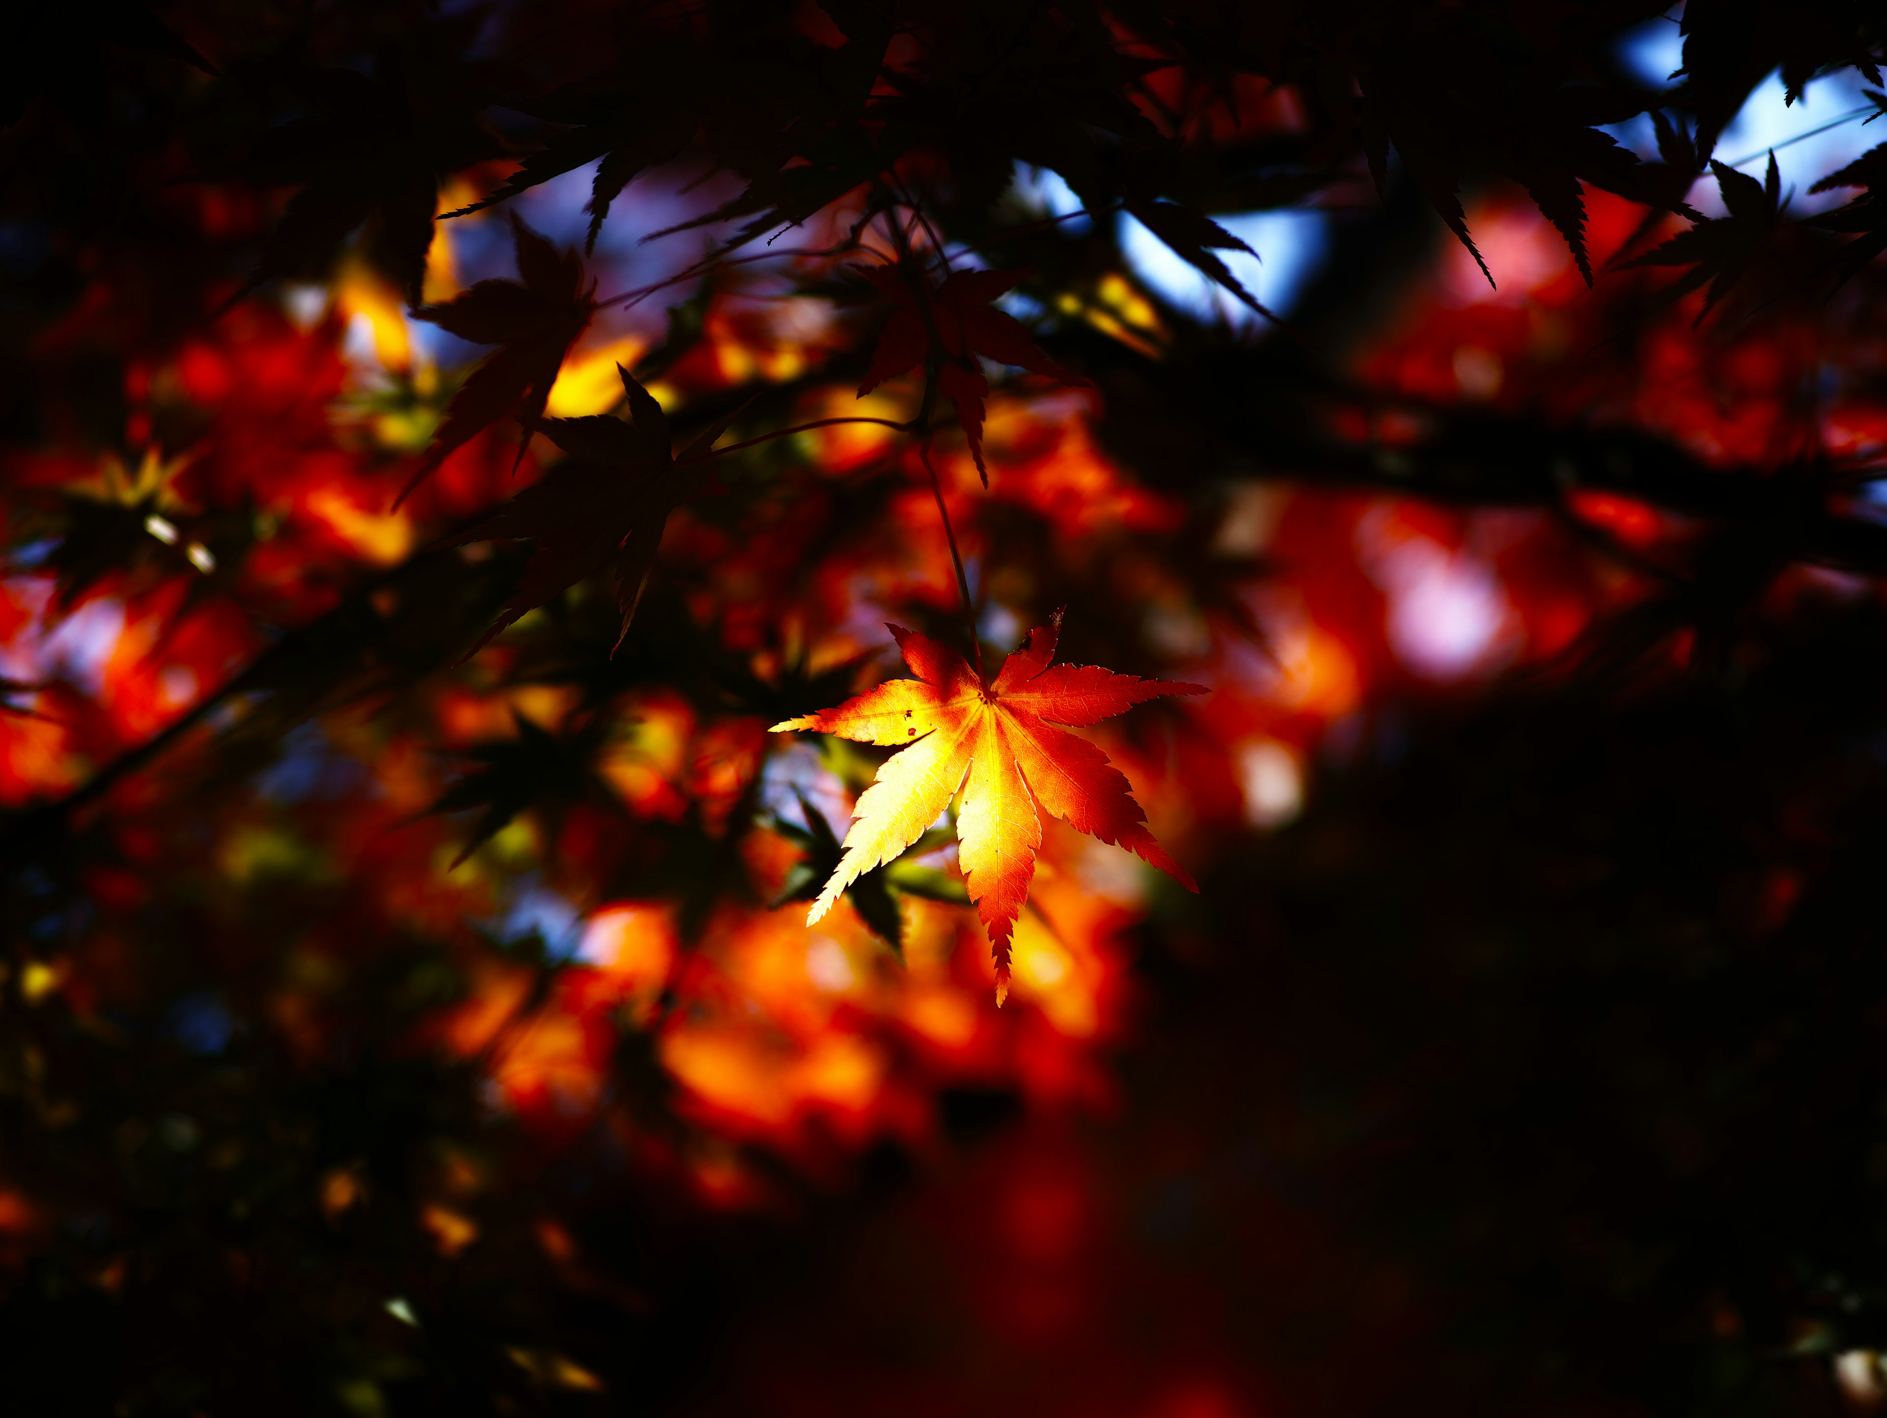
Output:
<svg viewBox="0 0 1887 1418">
<path fill-rule="evenodd" d="M 989 380 L 983 378 L 977 355 L 1062 383 L 1091 383 L 1044 355 L 1015 315 L 989 304 L 1028 272 L 957 270 L 930 291 L 921 278 L 911 279 L 896 266 L 853 266 L 853 270 L 891 302 L 891 319 L 877 336 L 877 349 L 872 351 L 872 366 L 864 372 L 859 397 L 872 393 L 885 380 L 934 361 L 938 389 L 957 406 L 957 421 L 970 442 L 976 470 L 983 474 L 983 487 L 989 487 L 989 468 L 983 463 L 983 408 L 989 400 Z"/>
</svg>

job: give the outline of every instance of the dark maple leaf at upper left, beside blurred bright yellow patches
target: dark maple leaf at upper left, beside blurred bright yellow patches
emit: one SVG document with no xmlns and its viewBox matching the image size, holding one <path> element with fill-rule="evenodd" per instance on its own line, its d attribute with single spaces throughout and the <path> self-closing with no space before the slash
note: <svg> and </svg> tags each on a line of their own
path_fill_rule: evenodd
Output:
<svg viewBox="0 0 1887 1418">
<path fill-rule="evenodd" d="M 583 334 L 596 312 L 596 283 L 583 283 L 583 261 L 576 251 L 559 251 L 511 213 L 521 281 L 479 281 L 443 306 L 421 306 L 417 319 L 483 346 L 504 346 L 485 359 L 445 406 L 432 446 L 419 470 L 394 500 L 406 500 L 453 451 L 476 434 L 517 412 L 525 436 L 517 446 L 523 461 L 530 432 L 543 417 L 543 404 L 557 383 L 564 353 Z M 651 400 L 653 402 L 653 400 Z M 517 463 L 511 464 L 513 468 Z M 540 483 L 542 485 L 542 483 Z"/>
</svg>

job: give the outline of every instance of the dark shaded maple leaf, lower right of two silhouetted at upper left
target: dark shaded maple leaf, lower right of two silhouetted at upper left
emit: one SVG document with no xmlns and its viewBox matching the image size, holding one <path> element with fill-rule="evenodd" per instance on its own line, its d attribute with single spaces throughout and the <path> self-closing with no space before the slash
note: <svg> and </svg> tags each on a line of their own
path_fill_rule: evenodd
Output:
<svg viewBox="0 0 1887 1418">
<path fill-rule="evenodd" d="M 677 463 L 662 406 L 621 364 L 617 374 L 628 395 L 626 421 L 608 414 L 543 419 L 538 425 L 542 432 L 570 457 L 477 527 L 445 542 L 462 546 L 515 536 L 538 544 L 504 612 L 466 651 L 466 659 L 525 612 L 604 566 L 615 570 L 617 606 L 623 612 L 615 644 L 621 646 L 628 634 L 668 514 L 696 497 L 706 483 L 706 474 L 689 464 L 706 457 L 740 410 L 708 425 Z"/>
</svg>

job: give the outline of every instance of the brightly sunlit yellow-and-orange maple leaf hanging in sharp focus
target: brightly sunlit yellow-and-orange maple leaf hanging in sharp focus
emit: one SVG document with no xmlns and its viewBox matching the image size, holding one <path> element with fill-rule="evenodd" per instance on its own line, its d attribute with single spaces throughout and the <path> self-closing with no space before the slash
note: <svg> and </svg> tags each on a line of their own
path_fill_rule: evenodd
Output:
<svg viewBox="0 0 1887 1418">
<path fill-rule="evenodd" d="M 1060 619 L 1055 612 L 1030 631 L 989 682 L 955 650 L 893 625 L 915 680 L 887 680 L 838 708 L 774 725 L 772 733 L 811 729 L 862 744 L 904 744 L 859 797 L 845 855 L 813 901 L 808 925 L 864 872 L 921 838 L 959 787 L 957 861 L 994 950 L 998 1003 L 1008 993 L 1010 935 L 1036 872 L 1038 806 L 1198 889 L 1153 840 L 1130 784 L 1108 755 L 1053 725 L 1100 723 L 1149 699 L 1204 695 L 1206 687 L 1051 665 Z"/>
</svg>

